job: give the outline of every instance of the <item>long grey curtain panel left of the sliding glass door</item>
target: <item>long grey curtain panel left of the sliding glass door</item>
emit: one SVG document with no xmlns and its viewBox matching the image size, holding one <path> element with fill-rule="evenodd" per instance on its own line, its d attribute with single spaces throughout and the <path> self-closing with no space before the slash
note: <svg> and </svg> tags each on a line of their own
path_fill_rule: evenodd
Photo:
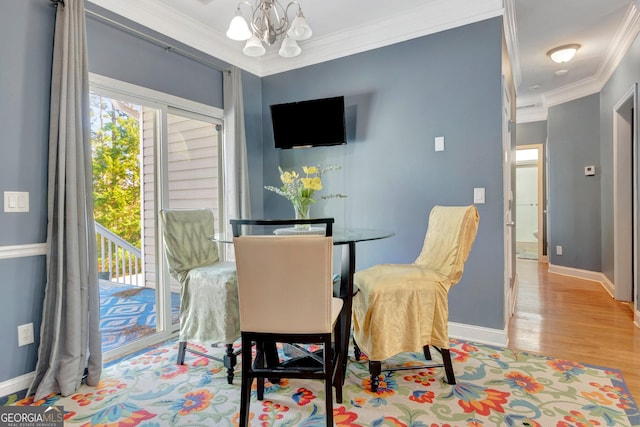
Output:
<svg viewBox="0 0 640 427">
<path fill-rule="evenodd" d="M 35 378 L 28 394 L 68 396 L 102 370 L 100 302 L 93 220 L 89 70 L 84 0 L 56 13 L 51 115 L 47 283 Z"/>
</svg>

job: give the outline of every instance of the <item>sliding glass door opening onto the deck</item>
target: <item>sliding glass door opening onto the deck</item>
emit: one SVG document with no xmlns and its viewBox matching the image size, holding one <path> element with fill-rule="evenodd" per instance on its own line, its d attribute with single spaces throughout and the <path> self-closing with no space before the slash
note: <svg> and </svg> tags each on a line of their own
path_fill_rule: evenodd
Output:
<svg viewBox="0 0 640 427">
<path fill-rule="evenodd" d="M 163 103 L 163 94 L 153 92 L 149 99 L 147 92 L 139 96 L 135 86 L 123 86 L 127 90 L 96 84 L 91 94 L 107 361 L 166 340 L 179 329 L 180 285 L 164 265 L 159 210 L 208 208 L 219 221 L 223 200 L 221 110 L 197 104 L 190 110 L 188 101 L 177 108 L 180 102 L 172 97 Z"/>
</svg>

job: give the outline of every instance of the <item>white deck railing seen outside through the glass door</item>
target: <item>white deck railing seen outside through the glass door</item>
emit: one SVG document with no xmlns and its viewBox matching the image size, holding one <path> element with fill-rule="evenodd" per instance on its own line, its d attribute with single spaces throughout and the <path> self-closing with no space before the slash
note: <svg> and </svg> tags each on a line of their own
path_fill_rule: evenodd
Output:
<svg viewBox="0 0 640 427">
<path fill-rule="evenodd" d="M 115 283 L 144 286 L 142 252 L 96 222 L 98 272 Z"/>
</svg>

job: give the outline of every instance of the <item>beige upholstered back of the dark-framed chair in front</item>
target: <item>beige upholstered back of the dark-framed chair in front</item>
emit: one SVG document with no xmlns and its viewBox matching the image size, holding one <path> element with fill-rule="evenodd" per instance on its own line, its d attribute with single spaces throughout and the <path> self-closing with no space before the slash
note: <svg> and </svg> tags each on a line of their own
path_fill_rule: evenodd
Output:
<svg viewBox="0 0 640 427">
<path fill-rule="evenodd" d="M 333 218 L 326 220 L 333 222 Z M 231 222 L 236 229 L 239 223 L 267 224 L 264 220 Z M 331 332 L 332 237 L 236 234 L 233 240 L 241 331 Z"/>
</svg>

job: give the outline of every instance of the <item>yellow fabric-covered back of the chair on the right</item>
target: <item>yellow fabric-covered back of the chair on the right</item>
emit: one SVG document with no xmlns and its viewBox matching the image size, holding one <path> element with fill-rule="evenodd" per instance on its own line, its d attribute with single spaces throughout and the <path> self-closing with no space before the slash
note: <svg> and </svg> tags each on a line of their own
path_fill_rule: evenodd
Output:
<svg viewBox="0 0 640 427">
<path fill-rule="evenodd" d="M 434 206 L 422 251 L 415 264 L 437 271 L 453 285 L 462 277 L 464 263 L 478 232 L 475 206 Z"/>
</svg>

